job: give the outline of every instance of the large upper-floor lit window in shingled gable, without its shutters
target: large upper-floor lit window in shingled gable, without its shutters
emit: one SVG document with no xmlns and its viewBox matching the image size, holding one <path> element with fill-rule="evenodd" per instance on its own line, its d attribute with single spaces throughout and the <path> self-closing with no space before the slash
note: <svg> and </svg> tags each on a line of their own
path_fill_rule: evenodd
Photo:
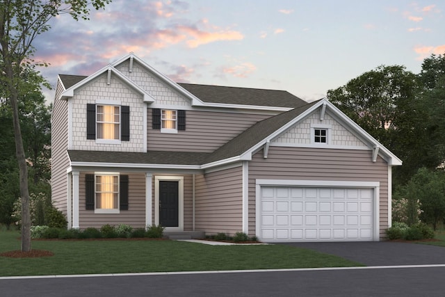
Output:
<svg viewBox="0 0 445 297">
<path fill-rule="evenodd" d="M 97 105 L 96 122 L 97 139 L 120 139 L 120 106 Z"/>
</svg>

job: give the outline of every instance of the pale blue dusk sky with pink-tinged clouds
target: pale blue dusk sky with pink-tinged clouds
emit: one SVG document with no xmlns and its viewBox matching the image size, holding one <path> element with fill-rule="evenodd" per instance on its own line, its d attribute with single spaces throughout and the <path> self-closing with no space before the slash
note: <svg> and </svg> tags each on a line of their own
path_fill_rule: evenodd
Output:
<svg viewBox="0 0 445 297">
<path fill-rule="evenodd" d="M 33 45 L 52 86 L 133 52 L 176 82 L 312 102 L 380 65 L 419 73 L 424 58 L 445 53 L 443 0 L 113 0 L 88 21 L 50 24 Z"/>
</svg>

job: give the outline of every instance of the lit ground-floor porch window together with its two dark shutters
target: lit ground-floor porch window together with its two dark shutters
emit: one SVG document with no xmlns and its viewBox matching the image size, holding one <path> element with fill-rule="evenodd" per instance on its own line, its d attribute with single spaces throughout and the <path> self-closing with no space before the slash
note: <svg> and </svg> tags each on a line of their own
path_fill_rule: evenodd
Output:
<svg viewBox="0 0 445 297">
<path fill-rule="evenodd" d="M 129 178 L 112 172 L 96 172 L 85 176 L 86 209 L 95 214 L 119 214 L 128 210 Z"/>
</svg>

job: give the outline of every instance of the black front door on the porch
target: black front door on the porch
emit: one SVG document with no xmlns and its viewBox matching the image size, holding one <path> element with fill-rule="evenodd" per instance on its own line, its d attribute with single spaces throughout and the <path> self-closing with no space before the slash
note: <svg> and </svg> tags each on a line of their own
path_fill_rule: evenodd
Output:
<svg viewBox="0 0 445 297">
<path fill-rule="evenodd" d="M 179 227 L 178 182 L 159 181 L 159 224 Z"/>
</svg>

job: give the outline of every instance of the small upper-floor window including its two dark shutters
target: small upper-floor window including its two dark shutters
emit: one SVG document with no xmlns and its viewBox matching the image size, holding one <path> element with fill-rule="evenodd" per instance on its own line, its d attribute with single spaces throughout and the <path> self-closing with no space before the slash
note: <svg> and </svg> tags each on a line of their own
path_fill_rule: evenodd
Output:
<svg viewBox="0 0 445 297">
<path fill-rule="evenodd" d="M 186 111 L 152 109 L 152 128 L 161 133 L 178 133 L 186 129 Z"/>
</svg>

